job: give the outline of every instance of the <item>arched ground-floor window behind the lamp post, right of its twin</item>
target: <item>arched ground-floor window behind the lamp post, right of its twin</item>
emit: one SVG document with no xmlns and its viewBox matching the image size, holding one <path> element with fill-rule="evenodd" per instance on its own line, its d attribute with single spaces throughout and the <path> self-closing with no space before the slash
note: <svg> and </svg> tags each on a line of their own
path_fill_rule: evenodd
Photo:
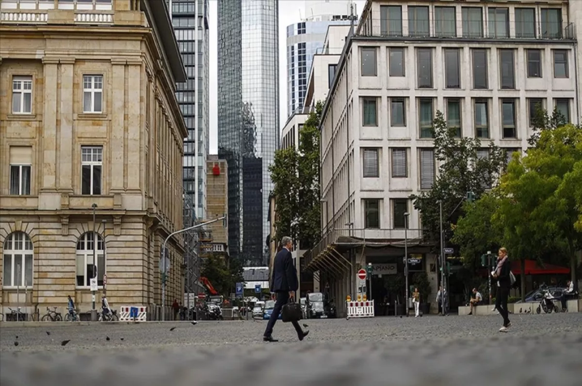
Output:
<svg viewBox="0 0 582 386">
<path fill-rule="evenodd" d="M 93 250 L 95 244 L 97 248 Z M 95 256 L 95 260 L 93 260 Z M 90 287 L 91 278 L 97 277 L 97 285 L 103 286 L 105 274 L 105 243 L 98 233 L 87 232 L 77 241 L 77 287 Z"/>
</svg>

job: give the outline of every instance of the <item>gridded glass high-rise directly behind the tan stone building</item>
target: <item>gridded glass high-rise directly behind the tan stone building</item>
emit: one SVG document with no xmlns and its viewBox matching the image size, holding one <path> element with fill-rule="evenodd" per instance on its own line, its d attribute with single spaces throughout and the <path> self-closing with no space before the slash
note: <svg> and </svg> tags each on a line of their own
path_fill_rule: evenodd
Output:
<svg viewBox="0 0 582 386">
<path fill-rule="evenodd" d="M 188 128 L 184 140 L 185 194 L 206 217 L 206 159 L 210 137 L 208 0 L 166 0 L 182 53 L 187 80 L 176 85 L 176 98 Z"/>
</svg>

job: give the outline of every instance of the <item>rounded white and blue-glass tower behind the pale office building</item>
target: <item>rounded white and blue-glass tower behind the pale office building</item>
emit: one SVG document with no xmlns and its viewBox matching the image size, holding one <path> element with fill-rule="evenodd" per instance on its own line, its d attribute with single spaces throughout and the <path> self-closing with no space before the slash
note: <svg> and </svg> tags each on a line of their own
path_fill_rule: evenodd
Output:
<svg viewBox="0 0 582 386">
<path fill-rule="evenodd" d="M 303 108 L 313 56 L 324 46 L 328 26 L 349 25 L 352 10 L 357 20 L 352 0 L 306 1 L 304 9 L 304 19 L 287 26 L 288 117 Z"/>
</svg>

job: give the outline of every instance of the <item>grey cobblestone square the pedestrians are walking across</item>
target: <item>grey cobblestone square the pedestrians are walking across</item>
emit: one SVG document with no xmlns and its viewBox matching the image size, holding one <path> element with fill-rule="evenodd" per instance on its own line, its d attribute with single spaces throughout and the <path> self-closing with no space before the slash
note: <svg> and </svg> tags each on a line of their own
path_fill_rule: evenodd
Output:
<svg viewBox="0 0 582 386">
<path fill-rule="evenodd" d="M 3 323 L 0 384 L 580 386 L 582 379 L 582 313 L 512 315 L 505 334 L 499 315 L 307 320 L 303 342 L 279 321 L 281 341 L 269 344 L 261 342 L 265 323 Z"/>
</svg>

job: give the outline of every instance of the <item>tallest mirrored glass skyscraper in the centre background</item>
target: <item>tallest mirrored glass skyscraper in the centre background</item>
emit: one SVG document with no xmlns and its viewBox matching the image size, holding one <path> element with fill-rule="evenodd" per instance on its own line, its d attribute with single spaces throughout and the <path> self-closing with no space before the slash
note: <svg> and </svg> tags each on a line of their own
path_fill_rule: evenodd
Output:
<svg viewBox="0 0 582 386">
<path fill-rule="evenodd" d="M 228 162 L 230 256 L 268 261 L 279 144 L 278 0 L 218 0 L 218 156 Z"/>
</svg>

